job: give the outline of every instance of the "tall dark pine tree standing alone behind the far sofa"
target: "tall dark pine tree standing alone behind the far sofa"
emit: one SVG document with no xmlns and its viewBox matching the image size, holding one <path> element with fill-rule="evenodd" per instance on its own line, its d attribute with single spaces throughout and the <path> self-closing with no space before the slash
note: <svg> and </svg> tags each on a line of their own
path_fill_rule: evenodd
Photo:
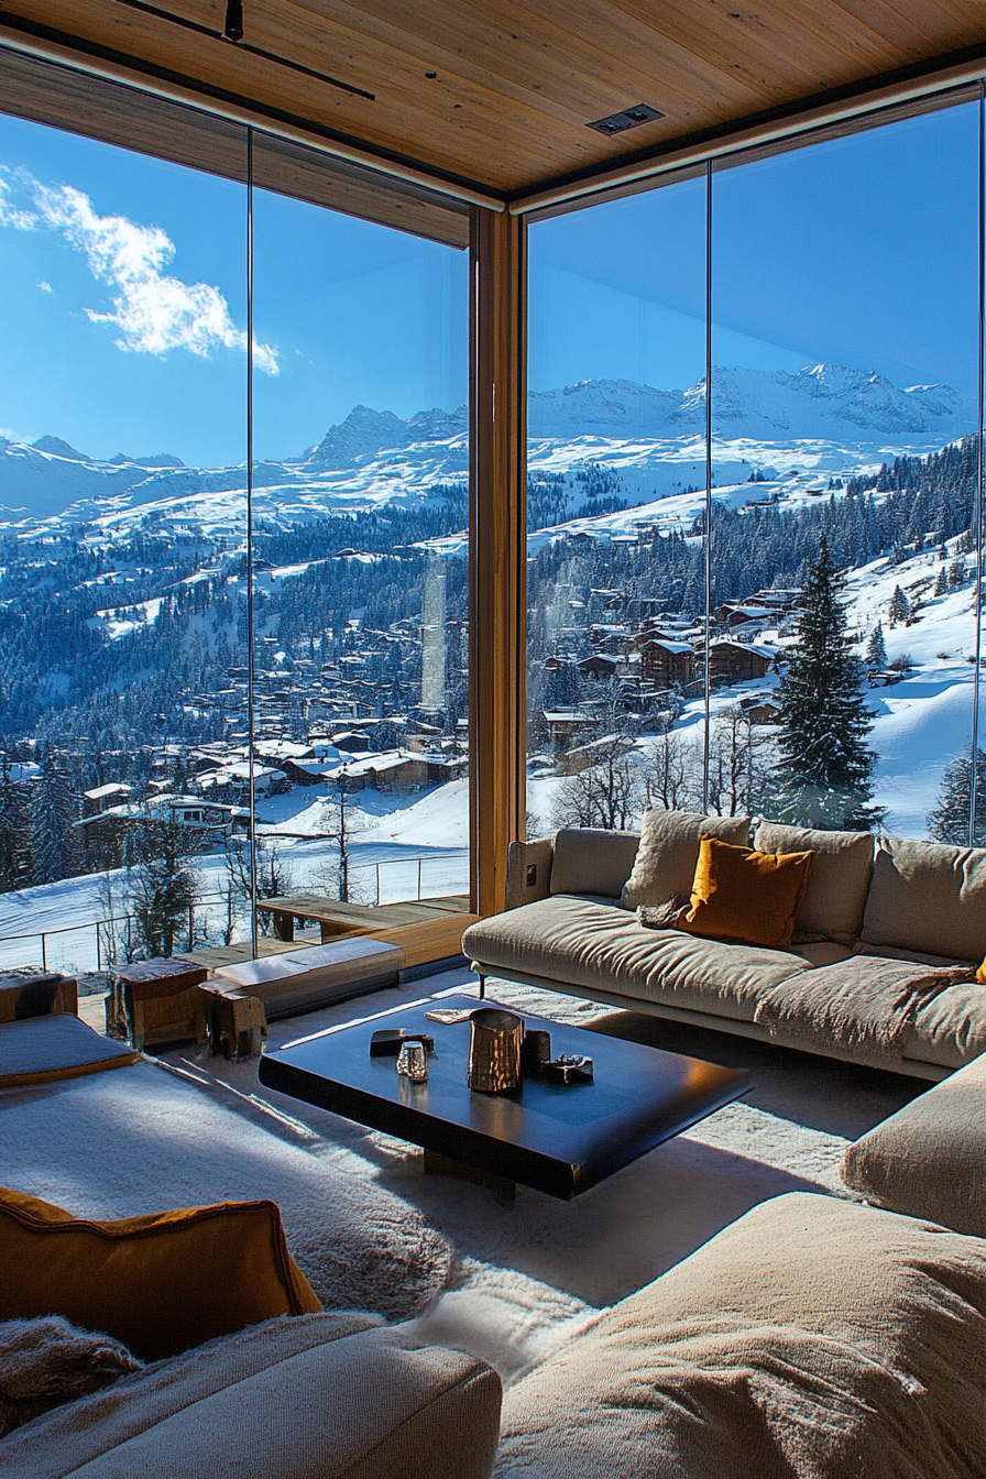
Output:
<svg viewBox="0 0 986 1479">
<path fill-rule="evenodd" d="M 862 669 L 846 630 L 840 589 L 822 534 L 778 694 L 778 806 L 782 819 L 798 825 L 868 830 L 881 815 L 871 805 L 877 757 L 866 738 L 874 720 L 860 689 Z"/>
</svg>

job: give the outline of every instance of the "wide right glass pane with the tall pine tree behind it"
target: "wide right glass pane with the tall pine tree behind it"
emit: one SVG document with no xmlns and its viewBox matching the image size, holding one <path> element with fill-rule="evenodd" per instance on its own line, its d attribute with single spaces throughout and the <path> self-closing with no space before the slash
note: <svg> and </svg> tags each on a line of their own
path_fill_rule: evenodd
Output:
<svg viewBox="0 0 986 1479">
<path fill-rule="evenodd" d="M 965 104 L 715 173 L 721 809 L 968 836 L 977 148 Z"/>
</svg>

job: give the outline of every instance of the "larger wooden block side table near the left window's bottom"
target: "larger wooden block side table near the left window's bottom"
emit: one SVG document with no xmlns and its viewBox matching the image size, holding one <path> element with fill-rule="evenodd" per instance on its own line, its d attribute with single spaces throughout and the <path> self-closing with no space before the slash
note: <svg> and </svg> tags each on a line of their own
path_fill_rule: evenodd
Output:
<svg viewBox="0 0 986 1479">
<path fill-rule="evenodd" d="M 174 957 L 115 966 L 106 997 L 108 1037 L 127 1038 L 132 1047 L 205 1041 L 205 1010 L 200 984 L 208 972 Z"/>
</svg>

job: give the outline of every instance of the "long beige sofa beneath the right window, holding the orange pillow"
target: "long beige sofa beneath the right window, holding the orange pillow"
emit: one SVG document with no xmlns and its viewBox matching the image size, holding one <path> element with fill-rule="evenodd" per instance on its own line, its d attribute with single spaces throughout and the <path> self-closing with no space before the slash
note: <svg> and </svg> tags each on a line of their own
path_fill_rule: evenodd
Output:
<svg viewBox="0 0 986 1479">
<path fill-rule="evenodd" d="M 815 852 L 788 950 L 640 923 L 640 905 L 687 892 L 710 831 L 763 852 Z M 940 1080 L 986 1050 L 986 986 L 974 979 L 986 957 L 986 850 L 647 812 L 642 836 L 571 828 L 514 843 L 507 910 L 472 924 L 463 951 L 483 979 Z M 896 989 L 903 1000 L 912 986 L 893 1031 L 874 1028 L 868 998 Z M 807 1035 L 797 998 L 826 994 Z"/>
</svg>

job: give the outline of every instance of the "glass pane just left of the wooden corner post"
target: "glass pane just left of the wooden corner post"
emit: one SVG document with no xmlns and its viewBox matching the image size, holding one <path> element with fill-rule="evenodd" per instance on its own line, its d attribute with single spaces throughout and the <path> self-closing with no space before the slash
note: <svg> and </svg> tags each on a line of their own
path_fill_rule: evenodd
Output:
<svg viewBox="0 0 986 1479">
<path fill-rule="evenodd" d="M 284 169 L 265 148 L 257 179 Z M 353 904 L 418 899 L 451 916 L 469 893 L 469 256 L 254 189 L 254 321 L 276 352 L 254 374 L 259 895 L 316 898 L 260 924 L 328 938 Z"/>
</svg>

